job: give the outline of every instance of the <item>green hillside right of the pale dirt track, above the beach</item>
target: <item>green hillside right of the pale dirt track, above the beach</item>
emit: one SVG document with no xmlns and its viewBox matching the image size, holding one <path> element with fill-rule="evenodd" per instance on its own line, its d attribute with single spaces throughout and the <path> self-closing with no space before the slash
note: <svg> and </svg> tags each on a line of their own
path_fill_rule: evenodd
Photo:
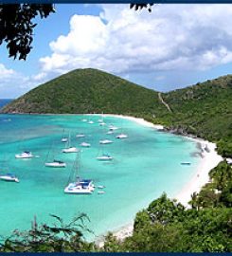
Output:
<svg viewBox="0 0 232 256">
<path fill-rule="evenodd" d="M 170 128 L 218 142 L 220 154 L 232 155 L 232 76 L 197 83 L 163 95 L 173 113 Z"/>
</svg>

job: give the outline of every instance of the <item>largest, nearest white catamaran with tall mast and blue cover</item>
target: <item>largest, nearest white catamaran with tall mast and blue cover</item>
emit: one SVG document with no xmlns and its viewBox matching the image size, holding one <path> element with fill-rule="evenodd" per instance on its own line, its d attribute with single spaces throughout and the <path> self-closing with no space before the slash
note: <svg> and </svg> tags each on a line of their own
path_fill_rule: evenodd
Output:
<svg viewBox="0 0 232 256">
<path fill-rule="evenodd" d="M 78 159 L 79 157 L 79 159 Z M 80 154 L 77 156 L 76 161 L 74 162 L 74 171 L 69 177 L 68 185 L 65 187 L 65 193 L 74 193 L 74 194 L 91 194 L 95 190 L 93 180 L 91 179 L 81 179 L 77 176 L 80 165 Z"/>
</svg>

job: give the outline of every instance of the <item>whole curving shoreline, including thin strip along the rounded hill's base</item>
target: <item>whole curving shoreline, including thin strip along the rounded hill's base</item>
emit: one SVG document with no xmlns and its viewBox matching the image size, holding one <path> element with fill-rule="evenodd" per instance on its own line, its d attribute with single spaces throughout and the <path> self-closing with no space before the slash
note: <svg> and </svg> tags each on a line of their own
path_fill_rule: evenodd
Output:
<svg viewBox="0 0 232 256">
<path fill-rule="evenodd" d="M 11 115 L 46 115 L 46 116 L 99 116 L 99 117 L 112 117 L 112 118 L 119 118 L 119 119 L 128 119 L 132 120 L 140 125 L 151 127 L 156 130 L 164 131 L 167 133 L 170 133 L 169 131 L 166 131 L 164 129 L 163 125 L 160 124 L 153 124 L 150 121 L 147 121 L 145 119 L 141 118 L 134 118 L 131 116 L 123 116 L 123 115 L 116 115 L 116 114 L 40 114 L 40 113 L 10 113 Z M 9 114 L 9 115 L 10 115 Z M 189 208 L 190 206 L 187 204 L 188 201 L 191 199 L 191 194 L 193 192 L 200 192 L 202 187 L 205 186 L 205 184 L 209 181 L 209 172 L 214 167 L 216 167 L 222 160 L 223 157 L 221 155 L 218 155 L 216 152 L 216 144 L 209 142 L 203 138 L 195 138 L 190 136 L 183 136 L 183 135 L 176 135 L 185 137 L 186 139 L 192 140 L 196 143 L 199 143 L 201 145 L 201 148 L 203 146 L 206 146 L 209 149 L 209 152 L 206 152 L 205 150 L 202 152 L 202 158 L 200 159 L 200 162 L 196 168 L 196 172 L 193 174 L 193 176 L 190 178 L 190 180 L 187 182 L 187 184 L 181 188 L 180 192 L 177 192 L 174 196 L 172 196 L 172 199 L 176 199 L 178 202 L 183 204 L 186 208 Z M 124 226 L 109 230 L 112 231 L 113 234 L 116 236 L 116 238 L 120 241 L 124 240 L 126 237 L 129 237 L 133 234 L 134 229 L 134 222 L 125 224 Z M 102 247 L 104 244 L 104 235 L 102 234 L 97 237 L 96 243 L 99 247 Z"/>
</svg>

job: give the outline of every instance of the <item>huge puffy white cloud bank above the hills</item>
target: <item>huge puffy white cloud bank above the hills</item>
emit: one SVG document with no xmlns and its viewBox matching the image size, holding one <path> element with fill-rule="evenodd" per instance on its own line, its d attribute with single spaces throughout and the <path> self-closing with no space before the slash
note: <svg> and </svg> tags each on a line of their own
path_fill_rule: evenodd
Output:
<svg viewBox="0 0 232 256">
<path fill-rule="evenodd" d="M 74 15 L 70 31 L 50 43 L 43 72 L 96 67 L 117 74 L 204 70 L 232 61 L 231 5 L 158 5 L 134 11 L 102 5 L 98 16 Z"/>
</svg>

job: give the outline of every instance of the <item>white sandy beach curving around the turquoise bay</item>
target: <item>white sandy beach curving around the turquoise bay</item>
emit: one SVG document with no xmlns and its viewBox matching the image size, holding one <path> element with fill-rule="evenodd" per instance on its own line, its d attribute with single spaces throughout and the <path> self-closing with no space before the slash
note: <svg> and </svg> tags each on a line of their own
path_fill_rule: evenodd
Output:
<svg viewBox="0 0 232 256">
<path fill-rule="evenodd" d="M 163 130 L 164 127 L 160 124 L 153 124 L 152 122 L 146 121 L 145 119 L 136 119 L 134 117 L 122 116 L 122 115 L 111 115 L 104 114 L 103 117 L 114 117 L 120 119 L 130 119 L 139 123 L 141 125 L 152 127 L 154 129 Z M 178 202 L 182 203 L 185 207 L 189 208 L 187 202 L 191 199 L 191 194 L 193 192 L 200 192 L 201 188 L 209 181 L 208 173 L 211 169 L 216 167 L 222 160 L 223 157 L 218 155 L 216 152 L 216 144 L 209 142 L 207 140 L 201 138 L 192 138 L 186 137 L 187 139 L 193 140 L 196 143 L 200 143 L 201 148 L 205 146 L 208 148 L 208 152 L 203 150 L 202 158 L 197 167 L 196 173 L 192 176 L 192 178 L 187 182 L 184 188 L 181 189 L 173 198 L 177 199 Z M 118 240 L 123 240 L 128 236 L 133 234 L 133 223 L 123 226 L 121 229 L 117 229 L 114 232 L 114 235 Z M 98 243 L 99 246 L 103 245 L 103 241 Z"/>
</svg>

